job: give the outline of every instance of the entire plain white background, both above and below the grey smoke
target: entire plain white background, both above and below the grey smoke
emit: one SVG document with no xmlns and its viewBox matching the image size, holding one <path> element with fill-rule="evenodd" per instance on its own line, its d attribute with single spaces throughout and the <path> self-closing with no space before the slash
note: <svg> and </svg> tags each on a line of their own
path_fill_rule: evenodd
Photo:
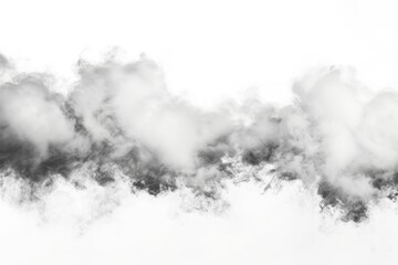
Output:
<svg viewBox="0 0 398 265">
<path fill-rule="evenodd" d="M 73 78 L 78 56 L 117 45 L 156 60 L 169 89 L 198 105 L 252 87 L 286 104 L 293 80 L 320 65 L 354 66 L 373 89 L 398 87 L 397 14 L 385 0 L 0 0 L 0 53 Z M 232 189 L 222 216 L 180 214 L 176 198 L 143 195 L 83 235 L 2 202 L 0 263 L 396 264 L 390 204 L 360 226 L 335 224 L 304 193 Z"/>
</svg>

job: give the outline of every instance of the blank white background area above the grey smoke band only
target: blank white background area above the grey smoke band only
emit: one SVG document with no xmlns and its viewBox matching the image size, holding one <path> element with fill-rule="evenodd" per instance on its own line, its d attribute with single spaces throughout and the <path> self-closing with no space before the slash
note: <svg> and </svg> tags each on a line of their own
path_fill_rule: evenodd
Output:
<svg viewBox="0 0 398 265">
<path fill-rule="evenodd" d="M 146 53 L 169 88 L 203 103 L 249 87 L 290 102 L 308 67 L 352 65 L 371 87 L 398 86 L 396 1 L 2 0 L 0 51 L 66 75 L 114 45 Z"/>
</svg>

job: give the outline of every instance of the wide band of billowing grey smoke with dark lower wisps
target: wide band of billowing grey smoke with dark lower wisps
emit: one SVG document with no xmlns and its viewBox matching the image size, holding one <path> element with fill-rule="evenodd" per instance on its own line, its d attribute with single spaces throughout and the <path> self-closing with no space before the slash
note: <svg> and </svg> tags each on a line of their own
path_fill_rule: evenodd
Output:
<svg viewBox="0 0 398 265">
<path fill-rule="evenodd" d="M 360 222 L 369 203 L 398 194 L 398 94 L 371 92 L 353 68 L 311 71 L 287 106 L 254 95 L 212 110 L 172 95 L 146 56 L 80 60 L 65 94 L 55 80 L 0 55 L 0 176 L 13 201 L 45 205 L 69 187 L 100 192 L 93 203 L 108 212 L 126 189 L 178 191 L 190 209 L 222 211 L 227 183 L 301 181 L 322 209 Z"/>
</svg>

